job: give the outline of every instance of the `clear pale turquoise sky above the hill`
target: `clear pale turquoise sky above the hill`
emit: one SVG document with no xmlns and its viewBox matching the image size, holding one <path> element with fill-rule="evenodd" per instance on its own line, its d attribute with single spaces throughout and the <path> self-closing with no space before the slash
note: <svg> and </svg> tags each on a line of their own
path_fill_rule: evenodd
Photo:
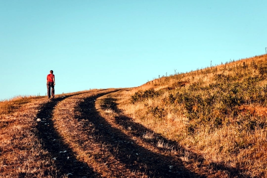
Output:
<svg viewBox="0 0 267 178">
<path fill-rule="evenodd" d="M 265 54 L 266 0 L 0 0 L 0 100 L 158 78 Z"/>
</svg>

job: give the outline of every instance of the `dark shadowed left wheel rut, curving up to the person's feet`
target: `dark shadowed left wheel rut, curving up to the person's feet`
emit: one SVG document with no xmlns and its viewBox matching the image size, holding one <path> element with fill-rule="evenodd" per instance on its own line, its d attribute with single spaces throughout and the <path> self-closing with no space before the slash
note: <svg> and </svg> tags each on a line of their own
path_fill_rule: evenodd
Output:
<svg viewBox="0 0 267 178">
<path fill-rule="evenodd" d="M 74 95 L 69 95 L 71 97 Z M 80 162 L 75 158 L 75 153 L 66 145 L 63 138 L 55 130 L 52 121 L 53 110 L 58 102 L 64 100 L 66 97 L 59 97 L 47 102 L 42 106 L 42 109 L 37 114 L 37 118 L 42 121 L 38 123 L 36 135 L 41 140 L 43 148 L 51 155 L 51 160 L 55 159 L 54 163 L 59 172 L 53 172 L 53 175 L 63 176 L 69 174 L 68 177 L 101 177 L 92 168 L 88 167 L 86 163 Z M 66 152 L 64 153 L 64 151 Z M 63 153 L 60 153 L 63 152 Z M 68 158 L 69 157 L 69 158 Z M 47 176 L 51 172 L 46 172 Z M 71 175 L 72 174 L 72 175 Z"/>
</svg>

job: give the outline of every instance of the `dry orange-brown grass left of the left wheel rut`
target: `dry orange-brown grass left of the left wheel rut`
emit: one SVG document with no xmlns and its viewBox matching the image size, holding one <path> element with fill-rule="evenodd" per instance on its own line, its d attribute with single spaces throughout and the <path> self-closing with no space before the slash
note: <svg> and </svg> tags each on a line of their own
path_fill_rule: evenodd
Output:
<svg viewBox="0 0 267 178">
<path fill-rule="evenodd" d="M 48 152 L 36 137 L 37 106 L 43 97 L 16 97 L 0 102 L 0 177 L 56 177 Z M 54 176 L 45 175 L 46 169 Z"/>
</svg>

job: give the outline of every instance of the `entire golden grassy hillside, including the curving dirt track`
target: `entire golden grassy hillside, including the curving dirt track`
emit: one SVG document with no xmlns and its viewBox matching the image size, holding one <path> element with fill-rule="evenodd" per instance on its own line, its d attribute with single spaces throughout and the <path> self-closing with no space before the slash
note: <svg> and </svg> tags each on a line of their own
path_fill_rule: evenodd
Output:
<svg viewBox="0 0 267 178">
<path fill-rule="evenodd" d="M 267 177 L 267 55 L 0 102 L 0 177 Z M 134 150 L 134 152 L 133 152 Z"/>
</svg>

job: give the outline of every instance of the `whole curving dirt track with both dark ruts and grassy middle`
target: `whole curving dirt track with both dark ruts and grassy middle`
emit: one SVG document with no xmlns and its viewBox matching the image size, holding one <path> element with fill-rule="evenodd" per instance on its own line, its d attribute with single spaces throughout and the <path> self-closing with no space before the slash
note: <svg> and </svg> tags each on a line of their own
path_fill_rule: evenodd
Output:
<svg viewBox="0 0 267 178">
<path fill-rule="evenodd" d="M 58 175 L 203 177 L 121 126 L 114 113 L 110 114 L 113 111 L 106 107 L 108 103 L 98 100 L 116 91 L 107 89 L 57 98 L 40 110 L 39 139 L 55 159 Z"/>
</svg>

